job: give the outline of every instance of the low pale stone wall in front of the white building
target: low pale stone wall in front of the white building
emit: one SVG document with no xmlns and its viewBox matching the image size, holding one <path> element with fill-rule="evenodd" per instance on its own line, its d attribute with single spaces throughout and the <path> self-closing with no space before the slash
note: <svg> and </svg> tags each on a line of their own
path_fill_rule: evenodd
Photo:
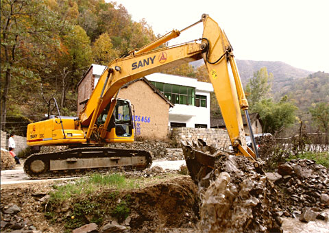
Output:
<svg viewBox="0 0 329 233">
<path fill-rule="evenodd" d="M 231 145 L 228 131 L 224 129 L 200 129 L 200 128 L 173 128 L 171 130 L 171 139 L 180 143 L 181 140 L 184 142 L 192 141 L 197 139 L 203 139 L 208 145 L 215 145 L 216 147 L 228 149 Z"/>
</svg>

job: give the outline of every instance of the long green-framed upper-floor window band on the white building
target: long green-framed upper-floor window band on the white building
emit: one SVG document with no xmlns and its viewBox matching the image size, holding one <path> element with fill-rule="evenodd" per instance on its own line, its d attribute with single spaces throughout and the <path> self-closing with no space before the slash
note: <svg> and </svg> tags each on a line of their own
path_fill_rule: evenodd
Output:
<svg viewBox="0 0 329 233">
<path fill-rule="evenodd" d="M 162 82 L 151 82 L 171 103 L 195 106 L 195 88 Z"/>
</svg>

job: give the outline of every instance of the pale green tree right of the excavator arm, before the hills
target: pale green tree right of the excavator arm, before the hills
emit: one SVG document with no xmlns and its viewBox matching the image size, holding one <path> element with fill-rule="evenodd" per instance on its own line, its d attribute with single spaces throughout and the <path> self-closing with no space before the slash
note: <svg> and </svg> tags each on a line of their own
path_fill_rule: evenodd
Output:
<svg viewBox="0 0 329 233">
<path fill-rule="evenodd" d="M 258 101 L 269 97 L 272 79 L 273 74 L 267 73 L 266 67 L 263 67 L 254 73 L 254 77 L 249 80 L 245 88 L 245 95 L 247 97 L 250 110 L 253 110 Z"/>
</svg>

